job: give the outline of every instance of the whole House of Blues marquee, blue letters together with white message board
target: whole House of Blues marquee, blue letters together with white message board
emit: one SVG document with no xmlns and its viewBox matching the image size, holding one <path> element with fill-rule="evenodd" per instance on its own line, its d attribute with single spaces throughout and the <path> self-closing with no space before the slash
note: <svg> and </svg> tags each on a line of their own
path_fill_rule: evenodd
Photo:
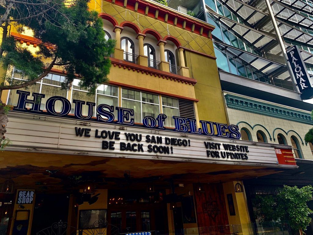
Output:
<svg viewBox="0 0 313 235">
<path fill-rule="evenodd" d="M 18 104 L 14 110 L 28 113 L 25 113 L 23 117 L 14 112 L 9 113 L 11 116 L 7 127 L 8 137 L 14 145 L 26 148 L 29 148 L 29 140 L 31 140 L 33 151 L 117 158 L 295 167 L 285 164 L 285 160 L 278 160 L 273 144 L 239 140 L 239 128 L 235 125 L 200 121 L 201 128 L 196 128 L 196 120 L 174 116 L 172 118 L 175 120 L 176 127 L 175 131 L 172 131 L 164 128 L 163 123 L 167 117 L 160 114 L 157 118 L 144 117 L 144 127 L 135 127 L 132 118 L 134 111 L 131 109 L 116 107 L 118 117 L 117 121 L 113 121 L 113 106 L 100 104 L 97 107 L 97 117 L 92 118 L 91 111 L 95 103 L 87 102 L 89 117 L 85 117 L 81 115 L 82 105 L 85 105 L 85 102 L 74 100 L 75 116 L 73 117 L 67 115 L 71 104 L 64 97 L 50 97 L 46 102 L 47 112 L 43 112 L 37 101 L 43 98 L 44 94 L 33 93 L 33 100 L 28 100 L 26 99 L 30 94 L 28 91 L 17 91 L 17 93 L 19 94 Z M 57 100 L 64 104 L 61 112 L 54 110 L 54 103 Z M 26 109 L 27 103 L 33 104 L 30 111 Z M 34 113 L 36 113 L 35 116 Z M 147 119 L 149 120 L 145 121 Z M 187 128 L 187 122 L 189 122 L 190 130 Z M 214 128 L 217 129 L 217 135 L 214 134 Z M 285 149 L 292 148 L 285 146 Z"/>
</svg>

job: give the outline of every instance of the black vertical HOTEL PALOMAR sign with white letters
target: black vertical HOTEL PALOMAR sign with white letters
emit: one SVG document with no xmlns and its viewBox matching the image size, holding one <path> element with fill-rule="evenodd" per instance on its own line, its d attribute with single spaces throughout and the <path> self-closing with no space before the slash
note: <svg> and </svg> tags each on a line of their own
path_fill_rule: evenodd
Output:
<svg viewBox="0 0 313 235">
<path fill-rule="evenodd" d="M 312 89 L 309 74 L 306 70 L 298 46 L 291 47 L 286 53 L 300 92 L 303 93 L 303 91 Z"/>
</svg>

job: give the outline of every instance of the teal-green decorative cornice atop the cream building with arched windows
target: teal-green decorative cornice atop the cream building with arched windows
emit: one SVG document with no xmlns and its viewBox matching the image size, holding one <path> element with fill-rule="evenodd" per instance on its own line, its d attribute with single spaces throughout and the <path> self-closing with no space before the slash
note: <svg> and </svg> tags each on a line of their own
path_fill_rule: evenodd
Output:
<svg viewBox="0 0 313 235">
<path fill-rule="evenodd" d="M 279 106 L 249 100 L 230 94 L 226 94 L 225 98 L 228 108 L 313 125 L 313 119 L 311 115 L 305 112 L 282 108 Z"/>
</svg>

